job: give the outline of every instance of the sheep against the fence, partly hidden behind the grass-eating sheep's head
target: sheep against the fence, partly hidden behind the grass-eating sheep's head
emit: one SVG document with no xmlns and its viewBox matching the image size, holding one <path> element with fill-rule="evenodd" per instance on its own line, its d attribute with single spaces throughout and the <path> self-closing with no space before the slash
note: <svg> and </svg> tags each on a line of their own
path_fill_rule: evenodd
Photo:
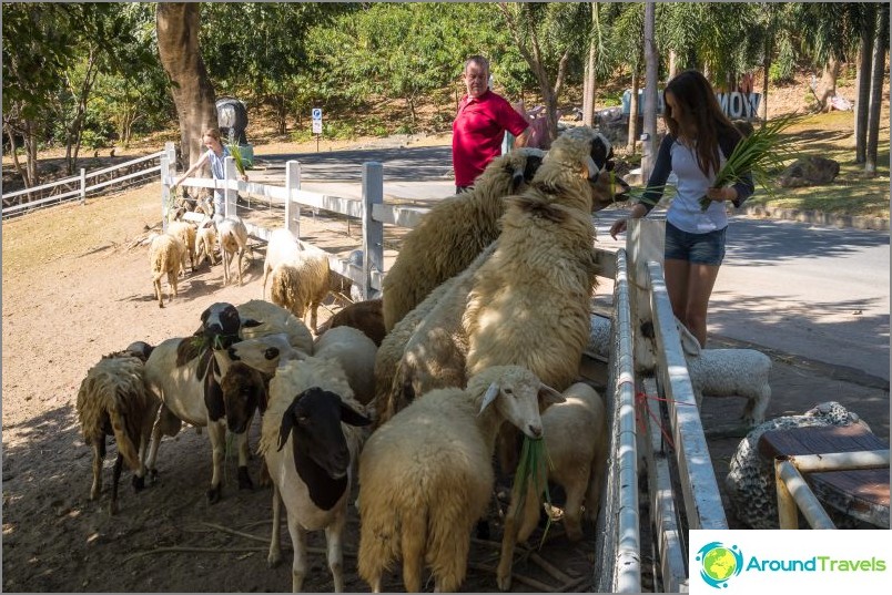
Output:
<svg viewBox="0 0 892 595">
<path fill-rule="evenodd" d="M 543 461 L 539 473 L 564 488 L 564 529 L 567 538 L 582 538 L 581 507 L 595 523 L 601 497 L 601 482 L 608 458 L 607 413 L 604 399 L 584 382 L 564 391 L 565 402 L 554 404 L 543 413 L 543 437 L 548 453 L 548 469 Z M 501 557 L 496 581 L 498 588 L 511 587 L 511 562 L 515 543 L 521 543 L 536 529 L 541 512 L 541 495 L 529 484 L 520 502 L 511 500 L 505 514 L 501 536 Z M 519 510 L 518 510 L 519 509 Z"/>
</svg>

